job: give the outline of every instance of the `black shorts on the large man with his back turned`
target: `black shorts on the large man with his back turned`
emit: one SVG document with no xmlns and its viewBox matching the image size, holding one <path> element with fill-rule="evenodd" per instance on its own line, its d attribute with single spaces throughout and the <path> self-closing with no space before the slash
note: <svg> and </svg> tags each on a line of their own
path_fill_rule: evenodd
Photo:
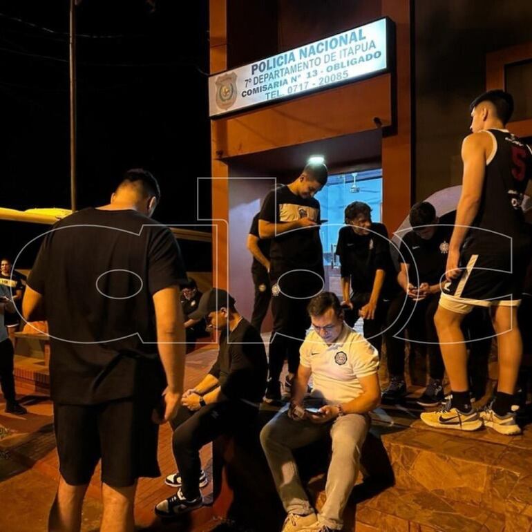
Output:
<svg viewBox="0 0 532 532">
<path fill-rule="evenodd" d="M 114 488 L 158 477 L 159 427 L 141 399 L 98 405 L 54 404 L 59 471 L 67 484 L 88 484 L 102 459 L 102 482 Z"/>
</svg>

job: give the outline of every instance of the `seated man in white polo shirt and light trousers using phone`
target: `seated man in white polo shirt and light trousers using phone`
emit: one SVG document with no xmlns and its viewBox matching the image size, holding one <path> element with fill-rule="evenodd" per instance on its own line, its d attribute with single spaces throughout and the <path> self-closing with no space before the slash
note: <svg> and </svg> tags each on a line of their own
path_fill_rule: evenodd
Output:
<svg viewBox="0 0 532 532">
<path fill-rule="evenodd" d="M 282 532 L 341 530 L 345 504 L 357 479 L 360 451 L 368 428 L 368 412 L 379 405 L 379 355 L 361 334 L 343 321 L 340 301 L 332 292 L 312 298 L 308 313 L 314 331 L 300 350 L 300 365 L 290 406 L 283 408 L 260 433 L 269 468 L 288 515 Z M 303 397 L 312 375 L 310 401 Z M 301 485 L 292 449 L 330 433 L 332 459 L 327 472 L 327 500 L 316 516 Z"/>
</svg>

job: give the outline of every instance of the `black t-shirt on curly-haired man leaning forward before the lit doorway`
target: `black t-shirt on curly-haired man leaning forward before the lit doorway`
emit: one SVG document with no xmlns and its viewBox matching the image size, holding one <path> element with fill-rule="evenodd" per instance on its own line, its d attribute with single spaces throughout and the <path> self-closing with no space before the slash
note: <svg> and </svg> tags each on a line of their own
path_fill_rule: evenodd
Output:
<svg viewBox="0 0 532 532">
<path fill-rule="evenodd" d="M 351 278 L 351 288 L 355 294 L 362 294 L 372 291 L 375 272 L 383 269 L 386 276 L 381 295 L 387 297 L 395 291 L 397 284 L 397 272 L 390 256 L 388 230 L 381 223 L 372 223 L 370 229 L 376 234 L 357 235 L 350 226 L 340 229 L 336 244 L 340 274 Z"/>
</svg>

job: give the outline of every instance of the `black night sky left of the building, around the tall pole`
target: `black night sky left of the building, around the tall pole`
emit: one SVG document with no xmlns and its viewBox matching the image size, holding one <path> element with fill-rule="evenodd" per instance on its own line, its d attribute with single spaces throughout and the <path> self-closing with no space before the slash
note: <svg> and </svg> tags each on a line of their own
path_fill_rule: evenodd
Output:
<svg viewBox="0 0 532 532">
<path fill-rule="evenodd" d="M 162 188 L 155 218 L 196 222 L 196 177 L 210 175 L 207 4 L 77 8 L 79 34 L 115 36 L 77 39 L 78 208 L 108 202 L 124 170 L 144 167 Z M 70 208 L 68 1 L 2 0 L 0 14 L 0 205 Z M 10 256 L 35 232 L 1 226 Z"/>
</svg>

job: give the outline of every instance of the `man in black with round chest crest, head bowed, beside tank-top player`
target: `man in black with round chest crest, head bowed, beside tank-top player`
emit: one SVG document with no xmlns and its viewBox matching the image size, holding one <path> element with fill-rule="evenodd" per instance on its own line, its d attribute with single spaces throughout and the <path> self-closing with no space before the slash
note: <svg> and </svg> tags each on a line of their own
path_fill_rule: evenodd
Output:
<svg viewBox="0 0 532 532">
<path fill-rule="evenodd" d="M 403 289 L 388 311 L 386 355 L 390 384 L 383 401 L 398 401 L 406 396 L 404 329 L 411 339 L 426 342 L 430 379 L 417 401 L 422 406 L 437 406 L 444 399 L 444 361 L 441 359 L 434 325 L 445 273 L 452 227 L 439 225 L 436 209 L 429 202 L 416 203 L 410 209 L 410 226 L 401 237 L 397 282 Z"/>
</svg>

